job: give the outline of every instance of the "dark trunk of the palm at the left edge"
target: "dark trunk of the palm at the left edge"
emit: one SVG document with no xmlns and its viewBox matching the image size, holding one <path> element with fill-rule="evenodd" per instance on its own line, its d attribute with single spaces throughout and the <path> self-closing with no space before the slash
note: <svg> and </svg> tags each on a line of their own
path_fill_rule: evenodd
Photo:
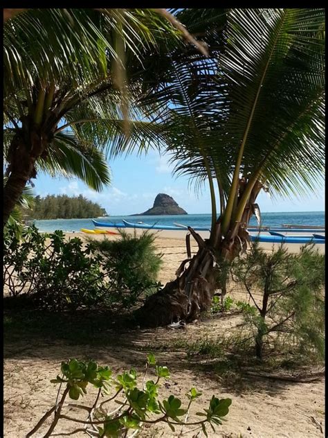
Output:
<svg viewBox="0 0 328 438">
<path fill-rule="evenodd" d="M 3 226 L 6 225 L 10 213 L 15 208 L 26 182 L 35 177 L 35 154 L 24 138 L 15 135 L 10 145 L 8 180 L 3 188 Z"/>
</svg>

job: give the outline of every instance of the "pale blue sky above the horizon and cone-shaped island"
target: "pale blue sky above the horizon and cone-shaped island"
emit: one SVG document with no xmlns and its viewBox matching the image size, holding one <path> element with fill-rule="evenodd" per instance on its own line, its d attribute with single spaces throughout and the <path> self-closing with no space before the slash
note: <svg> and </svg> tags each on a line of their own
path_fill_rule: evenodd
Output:
<svg viewBox="0 0 328 438">
<path fill-rule="evenodd" d="M 89 189 L 78 179 L 51 178 L 40 173 L 35 184 L 35 194 L 79 195 L 98 202 L 111 216 L 142 213 L 152 207 L 158 193 L 171 195 L 176 202 L 188 213 L 210 213 L 210 195 L 205 186 L 202 193 L 197 195 L 194 188 L 188 188 L 188 178 L 173 177 L 172 166 L 167 163 L 167 156 L 160 156 L 154 150 L 147 156 L 137 157 L 130 155 L 120 157 L 110 163 L 111 186 L 101 193 Z M 275 199 L 272 200 L 266 193 L 261 193 L 257 202 L 262 212 L 280 211 L 324 211 L 324 187 L 317 195 L 309 195 L 300 200 Z"/>
</svg>

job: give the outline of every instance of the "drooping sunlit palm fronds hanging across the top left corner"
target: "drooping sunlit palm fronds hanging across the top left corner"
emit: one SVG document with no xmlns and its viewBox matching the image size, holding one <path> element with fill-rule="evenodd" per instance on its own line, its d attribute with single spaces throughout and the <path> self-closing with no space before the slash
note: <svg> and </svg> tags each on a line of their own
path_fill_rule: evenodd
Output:
<svg viewBox="0 0 328 438">
<path fill-rule="evenodd" d="M 108 76 L 111 60 L 120 59 L 116 35 L 140 58 L 163 33 L 180 37 L 167 20 L 149 9 L 26 10 L 4 25 L 4 89 L 33 86 L 35 73 L 44 82 L 69 78 L 72 85 L 81 86 Z"/>
</svg>

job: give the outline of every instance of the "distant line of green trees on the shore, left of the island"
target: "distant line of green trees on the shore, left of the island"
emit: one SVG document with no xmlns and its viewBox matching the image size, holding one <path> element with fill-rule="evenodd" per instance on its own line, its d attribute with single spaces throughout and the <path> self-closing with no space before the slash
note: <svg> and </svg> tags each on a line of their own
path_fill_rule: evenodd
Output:
<svg viewBox="0 0 328 438">
<path fill-rule="evenodd" d="M 107 216 L 106 210 L 84 196 L 48 195 L 35 197 L 35 207 L 29 214 L 33 219 L 96 218 Z"/>
</svg>

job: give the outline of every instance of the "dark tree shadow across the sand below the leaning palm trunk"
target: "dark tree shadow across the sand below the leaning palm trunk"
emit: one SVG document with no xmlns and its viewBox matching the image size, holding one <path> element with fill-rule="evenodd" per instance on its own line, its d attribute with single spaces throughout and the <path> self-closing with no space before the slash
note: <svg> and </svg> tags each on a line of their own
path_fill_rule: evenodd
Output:
<svg viewBox="0 0 328 438">
<path fill-rule="evenodd" d="M 188 327 L 189 329 L 189 327 Z M 189 329 L 190 330 L 190 329 Z M 197 330 L 202 330 L 199 324 Z M 42 310 L 6 310 L 4 313 L 5 360 L 51 360 L 60 362 L 67 358 L 97 360 L 109 365 L 113 371 L 136 367 L 143 369 L 145 357 L 154 351 L 161 365 L 167 365 L 172 375 L 189 372 L 193 378 L 205 378 L 221 390 L 233 394 L 264 392 L 275 395 L 298 385 L 295 369 L 274 369 L 267 374 L 263 367 L 247 358 L 225 356 L 210 360 L 201 356 L 188 356 L 183 342 L 187 331 L 167 328 L 136 328 L 128 314 L 80 310 L 75 313 L 50 313 Z M 246 366 L 244 366 L 246 365 Z M 249 370 L 258 371 L 250 375 Z M 317 370 L 318 371 L 318 370 Z M 313 368 L 303 369 L 302 376 L 313 375 Z M 317 372 L 318 379 L 322 378 Z M 291 381 L 288 380 L 291 376 Z M 296 376 L 295 381 L 293 376 Z M 287 377 L 287 380 L 286 380 Z M 314 378 L 313 378 L 314 380 Z M 304 387 L 306 384 L 304 383 Z"/>
</svg>

